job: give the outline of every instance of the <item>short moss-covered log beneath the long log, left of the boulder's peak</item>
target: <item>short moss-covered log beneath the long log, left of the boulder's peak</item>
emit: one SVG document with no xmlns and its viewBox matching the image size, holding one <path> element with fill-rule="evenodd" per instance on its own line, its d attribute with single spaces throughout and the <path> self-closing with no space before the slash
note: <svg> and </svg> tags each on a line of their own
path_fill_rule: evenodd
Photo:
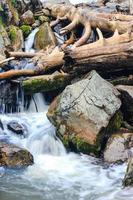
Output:
<svg viewBox="0 0 133 200">
<path fill-rule="evenodd" d="M 25 94 L 32 94 L 64 88 L 69 81 L 70 77 L 68 74 L 54 73 L 52 75 L 30 77 L 22 81 L 22 87 Z"/>
</svg>

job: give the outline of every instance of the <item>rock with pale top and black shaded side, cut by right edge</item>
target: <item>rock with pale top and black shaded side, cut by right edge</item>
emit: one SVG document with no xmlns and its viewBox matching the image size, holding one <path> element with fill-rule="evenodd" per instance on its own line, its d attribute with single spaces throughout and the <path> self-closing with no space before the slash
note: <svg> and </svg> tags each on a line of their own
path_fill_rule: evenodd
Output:
<svg viewBox="0 0 133 200">
<path fill-rule="evenodd" d="M 118 85 L 116 88 L 121 92 L 124 120 L 133 124 L 133 86 Z"/>
</svg>

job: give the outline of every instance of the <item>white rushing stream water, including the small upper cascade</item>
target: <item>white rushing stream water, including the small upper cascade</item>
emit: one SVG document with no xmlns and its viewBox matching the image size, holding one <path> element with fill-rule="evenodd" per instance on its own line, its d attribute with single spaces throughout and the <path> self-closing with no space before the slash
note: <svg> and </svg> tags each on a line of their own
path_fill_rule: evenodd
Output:
<svg viewBox="0 0 133 200">
<path fill-rule="evenodd" d="M 28 37 L 26 51 L 33 51 L 36 31 Z M 122 187 L 126 164 L 106 166 L 91 156 L 66 152 L 46 117 L 43 95 L 35 94 L 28 110 L 23 101 L 22 95 L 21 112 L 0 115 L 0 140 L 28 149 L 34 165 L 25 170 L 0 168 L 0 200 L 133 200 L 133 189 Z M 25 138 L 7 129 L 12 120 L 26 127 Z"/>
</svg>

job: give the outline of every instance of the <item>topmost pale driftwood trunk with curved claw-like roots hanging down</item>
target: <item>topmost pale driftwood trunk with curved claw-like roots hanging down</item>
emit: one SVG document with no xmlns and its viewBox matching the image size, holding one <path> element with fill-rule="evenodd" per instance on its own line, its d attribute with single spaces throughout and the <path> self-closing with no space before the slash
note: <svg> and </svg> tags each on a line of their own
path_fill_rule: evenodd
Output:
<svg viewBox="0 0 133 200">
<path fill-rule="evenodd" d="M 132 15 L 97 13 L 72 5 L 46 3 L 42 13 L 56 18 L 57 23 L 62 20 L 70 21 L 70 24 L 60 30 L 60 34 L 67 34 L 78 25 L 84 26 L 83 36 L 74 43 L 73 47 L 85 44 L 90 38 L 92 30 L 96 28 L 106 32 L 115 32 L 117 29 L 119 33 L 125 33 L 132 31 L 133 26 Z"/>
</svg>

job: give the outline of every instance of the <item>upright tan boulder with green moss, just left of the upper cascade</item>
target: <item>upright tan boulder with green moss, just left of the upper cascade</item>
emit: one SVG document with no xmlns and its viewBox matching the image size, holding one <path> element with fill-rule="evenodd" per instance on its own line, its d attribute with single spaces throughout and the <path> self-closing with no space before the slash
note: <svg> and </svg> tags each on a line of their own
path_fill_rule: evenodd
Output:
<svg viewBox="0 0 133 200">
<path fill-rule="evenodd" d="M 11 25 L 9 27 L 9 38 L 11 40 L 12 47 L 15 51 L 21 50 L 24 46 L 24 39 L 22 30 L 17 26 Z"/>
</svg>

